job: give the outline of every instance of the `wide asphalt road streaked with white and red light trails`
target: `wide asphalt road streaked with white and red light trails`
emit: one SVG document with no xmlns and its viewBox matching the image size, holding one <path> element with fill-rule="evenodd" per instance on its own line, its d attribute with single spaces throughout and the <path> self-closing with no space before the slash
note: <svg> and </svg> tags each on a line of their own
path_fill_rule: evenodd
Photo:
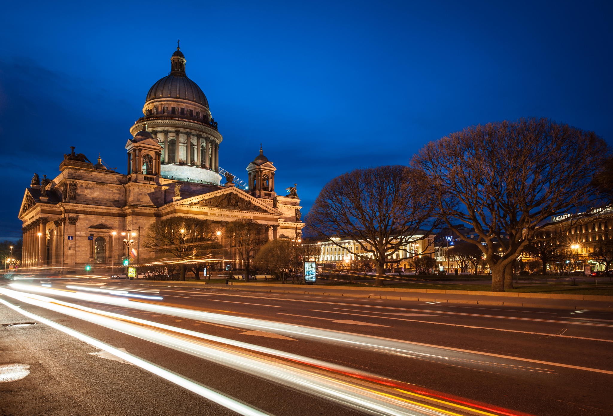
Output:
<svg viewBox="0 0 613 416">
<path fill-rule="evenodd" d="M 613 313 L 24 280 L 0 316 L 37 322 L 2 415 L 613 413 Z"/>
</svg>

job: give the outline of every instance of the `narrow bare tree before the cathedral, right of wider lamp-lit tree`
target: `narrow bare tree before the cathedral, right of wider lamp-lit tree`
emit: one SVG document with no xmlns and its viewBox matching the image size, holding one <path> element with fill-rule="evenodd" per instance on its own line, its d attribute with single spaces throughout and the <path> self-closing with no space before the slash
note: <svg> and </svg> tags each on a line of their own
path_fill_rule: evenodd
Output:
<svg viewBox="0 0 613 416">
<path fill-rule="evenodd" d="M 257 248 L 268 241 L 264 226 L 251 219 L 234 220 L 228 223 L 226 232 L 232 239 L 230 247 L 236 249 L 238 258 L 245 264 L 245 281 L 249 281 L 251 259 Z"/>
</svg>

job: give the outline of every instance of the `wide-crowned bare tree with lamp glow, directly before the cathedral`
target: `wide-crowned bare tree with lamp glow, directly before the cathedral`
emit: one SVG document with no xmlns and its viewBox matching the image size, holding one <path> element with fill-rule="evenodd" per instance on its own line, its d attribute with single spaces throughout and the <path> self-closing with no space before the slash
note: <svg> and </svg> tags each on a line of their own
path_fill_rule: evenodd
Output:
<svg viewBox="0 0 613 416">
<path fill-rule="evenodd" d="M 147 230 L 143 247 L 156 254 L 167 253 L 178 259 L 180 279 L 185 280 L 187 261 L 210 256 L 219 243 L 208 222 L 194 217 L 172 217 L 153 223 Z"/>
</svg>

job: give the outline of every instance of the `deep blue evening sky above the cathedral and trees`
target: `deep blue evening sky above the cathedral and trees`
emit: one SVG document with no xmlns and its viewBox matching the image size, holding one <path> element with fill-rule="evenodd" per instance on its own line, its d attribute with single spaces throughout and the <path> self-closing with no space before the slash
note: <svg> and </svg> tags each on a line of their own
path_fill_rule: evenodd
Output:
<svg viewBox="0 0 613 416">
<path fill-rule="evenodd" d="M 8 2 L 0 16 L 0 240 L 69 146 L 125 169 L 181 39 L 246 179 L 264 154 L 306 210 L 332 177 L 406 164 L 473 124 L 544 116 L 613 140 L 609 1 Z M 303 212 L 306 212 L 303 210 Z"/>
</svg>

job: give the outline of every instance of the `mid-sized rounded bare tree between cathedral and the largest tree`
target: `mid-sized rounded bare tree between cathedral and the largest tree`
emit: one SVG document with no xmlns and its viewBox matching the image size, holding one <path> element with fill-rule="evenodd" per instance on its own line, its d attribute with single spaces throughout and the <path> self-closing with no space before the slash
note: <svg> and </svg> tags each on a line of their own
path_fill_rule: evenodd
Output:
<svg viewBox="0 0 613 416">
<path fill-rule="evenodd" d="M 436 226 L 433 193 L 424 180 L 420 171 L 398 165 L 356 169 L 335 177 L 319 193 L 307 226 L 356 258 L 373 254 L 376 283 L 381 284 L 394 253 L 427 239 Z M 343 247 L 332 236 L 349 237 L 356 245 Z M 355 250 L 357 246 L 362 250 Z"/>
</svg>

